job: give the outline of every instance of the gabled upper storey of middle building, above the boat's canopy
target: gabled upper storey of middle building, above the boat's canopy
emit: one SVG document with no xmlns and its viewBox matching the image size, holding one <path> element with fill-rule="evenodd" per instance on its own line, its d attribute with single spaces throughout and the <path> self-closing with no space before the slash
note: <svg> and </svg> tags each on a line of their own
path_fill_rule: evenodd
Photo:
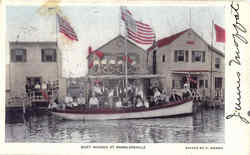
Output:
<svg viewBox="0 0 250 155">
<path fill-rule="evenodd" d="M 127 57 L 125 54 L 127 50 Z M 146 63 L 146 51 L 121 35 L 115 37 L 95 51 L 102 52 L 100 57 L 93 53 L 88 57 L 89 75 L 124 75 L 127 59 L 127 73 L 129 75 L 149 74 Z M 92 63 L 92 64 L 91 64 Z"/>
</svg>

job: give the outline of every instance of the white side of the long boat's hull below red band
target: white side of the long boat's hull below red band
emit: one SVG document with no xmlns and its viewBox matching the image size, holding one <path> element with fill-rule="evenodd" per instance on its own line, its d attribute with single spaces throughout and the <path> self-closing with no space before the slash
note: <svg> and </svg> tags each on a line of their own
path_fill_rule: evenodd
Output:
<svg viewBox="0 0 250 155">
<path fill-rule="evenodd" d="M 144 111 L 123 112 L 123 113 L 70 113 L 52 112 L 53 115 L 67 120 L 115 120 L 115 119 L 137 119 L 170 117 L 193 113 L 193 101 L 187 101 L 169 107 L 148 109 Z"/>
</svg>

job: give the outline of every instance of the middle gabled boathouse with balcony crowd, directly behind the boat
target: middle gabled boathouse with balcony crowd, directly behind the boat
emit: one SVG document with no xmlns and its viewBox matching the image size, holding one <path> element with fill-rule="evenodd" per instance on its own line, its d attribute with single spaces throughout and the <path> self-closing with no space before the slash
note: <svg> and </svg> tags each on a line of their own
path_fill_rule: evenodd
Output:
<svg viewBox="0 0 250 155">
<path fill-rule="evenodd" d="M 116 92 L 126 87 L 127 79 L 129 84 L 143 87 L 144 93 L 148 94 L 150 80 L 160 78 L 160 75 L 152 74 L 147 59 L 144 49 L 118 35 L 89 55 L 87 77 L 92 85 L 101 81 L 104 86 L 117 88 Z"/>
</svg>

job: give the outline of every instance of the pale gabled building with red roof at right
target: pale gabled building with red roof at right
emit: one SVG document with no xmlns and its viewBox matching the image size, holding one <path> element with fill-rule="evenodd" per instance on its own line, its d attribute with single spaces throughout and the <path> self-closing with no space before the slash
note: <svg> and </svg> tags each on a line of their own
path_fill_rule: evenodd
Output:
<svg viewBox="0 0 250 155">
<path fill-rule="evenodd" d="M 190 88 L 197 89 L 201 96 L 224 98 L 224 53 L 192 29 L 160 39 L 156 45 L 148 49 L 148 64 L 165 76 L 161 79 L 164 88 L 178 92 L 190 81 Z"/>
</svg>

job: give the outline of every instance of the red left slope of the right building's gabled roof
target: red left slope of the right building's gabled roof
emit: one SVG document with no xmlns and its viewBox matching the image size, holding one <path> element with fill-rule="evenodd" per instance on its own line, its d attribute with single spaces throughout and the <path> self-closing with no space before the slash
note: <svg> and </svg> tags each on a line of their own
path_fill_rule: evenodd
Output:
<svg viewBox="0 0 250 155">
<path fill-rule="evenodd" d="M 160 40 L 158 40 L 156 42 L 156 45 L 157 47 L 162 47 L 162 46 L 166 46 L 166 45 L 169 45 L 170 43 L 172 43 L 173 41 L 175 41 L 177 38 L 179 38 L 182 34 L 184 34 L 185 32 L 187 32 L 188 30 L 190 29 L 186 29 L 184 31 L 181 31 L 179 33 L 176 33 L 176 34 L 173 34 L 169 37 L 166 37 L 166 38 L 162 38 Z M 148 51 L 152 50 L 155 46 L 151 46 L 149 47 Z"/>
</svg>

